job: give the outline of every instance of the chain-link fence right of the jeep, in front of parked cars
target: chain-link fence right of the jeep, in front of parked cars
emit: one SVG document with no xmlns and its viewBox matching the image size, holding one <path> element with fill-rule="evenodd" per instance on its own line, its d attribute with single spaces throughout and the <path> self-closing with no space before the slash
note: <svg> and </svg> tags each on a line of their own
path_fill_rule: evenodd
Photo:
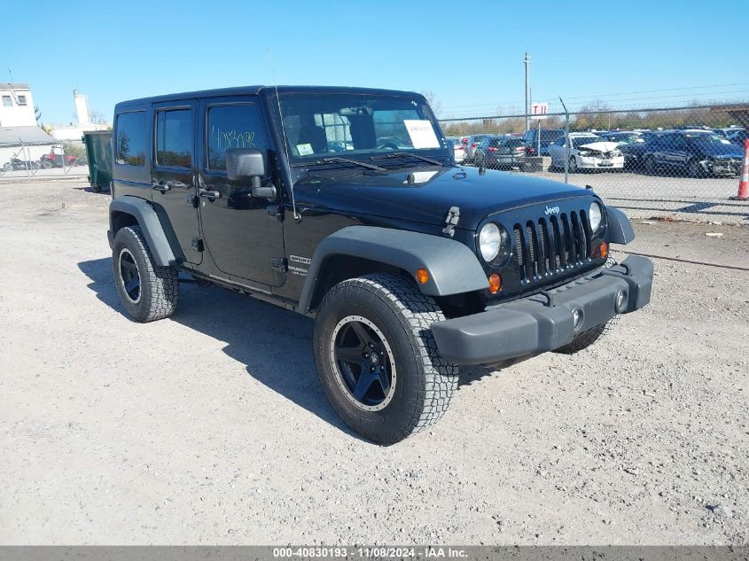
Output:
<svg viewBox="0 0 749 561">
<path fill-rule="evenodd" d="M 441 121 L 465 165 L 590 185 L 631 216 L 746 222 L 737 194 L 749 105 Z"/>
</svg>

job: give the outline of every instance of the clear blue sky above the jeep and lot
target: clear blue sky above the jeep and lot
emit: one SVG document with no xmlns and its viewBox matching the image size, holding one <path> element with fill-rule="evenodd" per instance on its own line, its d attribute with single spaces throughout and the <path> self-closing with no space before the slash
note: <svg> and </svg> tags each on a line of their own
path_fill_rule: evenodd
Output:
<svg viewBox="0 0 749 561">
<path fill-rule="evenodd" d="M 536 100 L 664 106 L 749 100 L 747 28 L 746 0 L 69 0 L 4 11 L 0 72 L 55 123 L 74 89 L 111 119 L 132 97 L 272 84 L 269 50 L 279 84 L 428 90 L 446 116 L 521 111 L 526 51 Z"/>
</svg>

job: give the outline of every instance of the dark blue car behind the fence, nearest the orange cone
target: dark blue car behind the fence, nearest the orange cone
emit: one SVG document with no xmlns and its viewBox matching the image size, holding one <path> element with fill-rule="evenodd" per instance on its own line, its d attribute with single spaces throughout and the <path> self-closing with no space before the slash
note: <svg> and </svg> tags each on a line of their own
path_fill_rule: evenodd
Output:
<svg viewBox="0 0 749 561">
<path fill-rule="evenodd" d="M 655 136 L 644 155 L 644 171 L 686 173 L 690 177 L 738 175 L 744 151 L 714 131 L 671 130 Z"/>
</svg>

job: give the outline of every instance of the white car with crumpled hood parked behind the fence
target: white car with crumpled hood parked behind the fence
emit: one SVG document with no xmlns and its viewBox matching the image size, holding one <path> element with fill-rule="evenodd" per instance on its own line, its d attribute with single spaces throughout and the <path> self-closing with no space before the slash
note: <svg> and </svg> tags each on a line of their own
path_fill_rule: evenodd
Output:
<svg viewBox="0 0 749 561">
<path fill-rule="evenodd" d="M 617 149 L 619 143 L 606 142 L 600 136 L 585 133 L 570 133 L 571 173 L 581 169 L 624 169 L 624 154 Z M 552 168 L 564 168 L 566 159 L 565 137 L 549 144 Z"/>
</svg>

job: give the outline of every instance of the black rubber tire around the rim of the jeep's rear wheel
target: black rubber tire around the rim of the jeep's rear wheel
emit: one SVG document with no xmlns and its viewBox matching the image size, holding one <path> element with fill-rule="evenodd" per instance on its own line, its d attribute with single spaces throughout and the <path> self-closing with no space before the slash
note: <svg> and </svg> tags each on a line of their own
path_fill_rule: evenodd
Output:
<svg viewBox="0 0 749 561">
<path fill-rule="evenodd" d="M 140 277 L 140 295 L 131 299 L 125 290 L 121 272 L 121 254 L 132 255 Z M 179 278 L 173 267 L 160 267 L 153 262 L 151 250 L 139 226 L 127 226 L 117 231 L 112 249 L 114 285 L 129 316 L 138 322 L 152 322 L 171 316 L 179 300 Z"/>
</svg>

